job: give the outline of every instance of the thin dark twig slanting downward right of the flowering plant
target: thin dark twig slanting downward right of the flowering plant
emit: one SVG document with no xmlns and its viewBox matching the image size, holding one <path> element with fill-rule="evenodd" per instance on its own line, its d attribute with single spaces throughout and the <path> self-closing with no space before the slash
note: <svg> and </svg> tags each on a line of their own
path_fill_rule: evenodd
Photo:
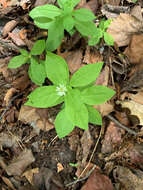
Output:
<svg viewBox="0 0 143 190">
<path fill-rule="evenodd" d="M 111 121 L 113 121 L 115 124 L 117 124 L 119 127 L 121 127 L 122 129 L 126 130 L 128 133 L 138 136 L 138 133 L 136 133 L 135 131 L 133 131 L 132 129 L 129 129 L 128 127 L 126 127 L 125 125 L 123 125 L 122 123 L 120 123 L 117 119 L 115 119 L 113 116 L 111 115 L 106 115 L 106 117 L 108 119 L 110 119 Z"/>
</svg>

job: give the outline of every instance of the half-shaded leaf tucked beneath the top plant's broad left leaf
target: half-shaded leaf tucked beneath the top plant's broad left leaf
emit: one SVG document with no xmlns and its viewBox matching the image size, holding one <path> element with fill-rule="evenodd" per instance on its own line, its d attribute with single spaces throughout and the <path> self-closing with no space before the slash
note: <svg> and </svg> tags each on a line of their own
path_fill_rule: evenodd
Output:
<svg viewBox="0 0 143 190">
<path fill-rule="evenodd" d="M 46 17 L 40 17 L 40 18 L 34 19 L 34 23 L 39 28 L 42 28 L 42 29 L 49 29 L 53 22 L 54 22 L 54 20 L 46 18 Z"/>
</svg>

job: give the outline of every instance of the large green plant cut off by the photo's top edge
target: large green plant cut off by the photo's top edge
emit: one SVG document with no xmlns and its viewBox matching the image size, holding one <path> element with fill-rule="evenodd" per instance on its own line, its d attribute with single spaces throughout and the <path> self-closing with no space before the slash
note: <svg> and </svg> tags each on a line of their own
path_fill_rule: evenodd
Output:
<svg viewBox="0 0 143 190">
<path fill-rule="evenodd" d="M 29 14 L 39 28 L 48 29 L 46 42 L 48 51 L 58 48 L 64 37 L 64 30 L 72 35 L 76 29 L 82 36 L 88 38 L 101 35 L 93 22 L 95 16 L 92 11 L 84 8 L 74 10 L 80 0 L 58 0 L 57 2 L 60 8 L 46 4 L 34 8 Z"/>
</svg>

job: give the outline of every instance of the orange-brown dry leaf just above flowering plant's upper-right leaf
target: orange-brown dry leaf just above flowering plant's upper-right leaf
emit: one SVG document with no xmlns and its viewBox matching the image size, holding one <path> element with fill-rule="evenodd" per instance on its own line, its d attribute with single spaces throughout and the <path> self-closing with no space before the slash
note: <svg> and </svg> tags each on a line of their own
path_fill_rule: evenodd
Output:
<svg viewBox="0 0 143 190">
<path fill-rule="evenodd" d="M 91 47 L 87 46 L 83 62 L 90 64 L 102 61 L 103 56 L 99 53 L 99 51 L 97 49 L 92 49 Z"/>
</svg>

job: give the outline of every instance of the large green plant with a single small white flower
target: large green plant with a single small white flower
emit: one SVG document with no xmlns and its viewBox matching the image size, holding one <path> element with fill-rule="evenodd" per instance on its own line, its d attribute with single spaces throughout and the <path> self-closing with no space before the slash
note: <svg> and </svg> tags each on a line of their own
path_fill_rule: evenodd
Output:
<svg viewBox="0 0 143 190">
<path fill-rule="evenodd" d="M 86 130 L 88 122 L 101 125 L 101 115 L 92 106 L 104 103 L 115 94 L 106 86 L 94 85 L 102 66 L 102 62 L 86 65 L 70 78 L 65 60 L 47 52 L 46 76 L 53 85 L 35 89 L 25 105 L 48 108 L 64 102 L 55 119 L 56 132 L 60 138 L 69 134 L 75 126 Z"/>
</svg>

